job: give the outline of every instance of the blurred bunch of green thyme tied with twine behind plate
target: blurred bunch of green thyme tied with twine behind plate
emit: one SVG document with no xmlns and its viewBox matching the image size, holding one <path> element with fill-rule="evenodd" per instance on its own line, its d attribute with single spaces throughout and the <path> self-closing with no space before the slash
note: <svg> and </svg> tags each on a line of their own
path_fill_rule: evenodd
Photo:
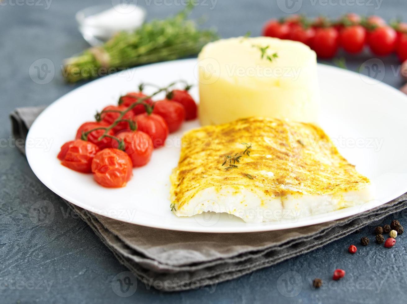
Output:
<svg viewBox="0 0 407 304">
<path fill-rule="evenodd" d="M 124 70 L 140 64 L 173 60 L 197 54 L 217 39 L 214 30 L 199 30 L 186 17 L 193 5 L 165 20 L 153 20 L 132 33 L 120 32 L 99 48 L 66 59 L 63 76 L 77 82 Z"/>
</svg>

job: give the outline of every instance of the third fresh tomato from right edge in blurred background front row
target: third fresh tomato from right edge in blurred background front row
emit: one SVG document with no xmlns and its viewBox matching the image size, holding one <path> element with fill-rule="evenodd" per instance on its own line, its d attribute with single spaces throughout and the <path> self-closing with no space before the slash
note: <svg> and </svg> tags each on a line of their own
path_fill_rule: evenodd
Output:
<svg viewBox="0 0 407 304">
<path fill-rule="evenodd" d="M 365 46 L 366 29 L 361 25 L 346 26 L 341 30 L 340 41 L 346 52 L 357 54 Z"/>
</svg>

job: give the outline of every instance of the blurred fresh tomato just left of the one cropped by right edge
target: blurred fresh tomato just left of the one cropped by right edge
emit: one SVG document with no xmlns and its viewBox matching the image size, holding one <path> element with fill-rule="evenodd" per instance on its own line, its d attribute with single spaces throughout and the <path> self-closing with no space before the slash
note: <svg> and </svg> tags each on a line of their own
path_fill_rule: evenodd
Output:
<svg viewBox="0 0 407 304">
<path fill-rule="evenodd" d="M 370 50 L 376 55 L 391 54 L 396 48 L 397 33 L 390 26 L 381 26 L 372 30 L 368 35 Z"/>
</svg>

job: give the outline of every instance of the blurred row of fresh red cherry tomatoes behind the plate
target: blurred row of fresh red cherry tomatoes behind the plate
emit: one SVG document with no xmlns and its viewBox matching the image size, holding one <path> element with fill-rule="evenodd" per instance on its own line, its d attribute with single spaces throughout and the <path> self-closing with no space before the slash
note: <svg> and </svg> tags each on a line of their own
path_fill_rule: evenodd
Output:
<svg viewBox="0 0 407 304">
<path fill-rule="evenodd" d="M 325 17 L 309 20 L 292 15 L 284 20 L 266 22 L 263 36 L 300 41 L 324 59 L 333 58 L 339 48 L 358 54 L 368 46 L 377 56 L 396 52 L 400 61 L 407 60 L 407 24 L 392 22 L 390 26 L 379 16 L 362 18 L 349 13 L 332 21 Z"/>
</svg>

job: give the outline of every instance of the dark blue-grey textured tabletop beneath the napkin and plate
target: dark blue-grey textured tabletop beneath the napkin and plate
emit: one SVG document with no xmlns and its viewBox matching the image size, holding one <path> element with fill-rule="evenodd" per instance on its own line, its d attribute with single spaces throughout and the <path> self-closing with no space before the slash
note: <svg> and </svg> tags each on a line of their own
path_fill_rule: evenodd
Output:
<svg viewBox="0 0 407 304">
<path fill-rule="evenodd" d="M 138 282 L 137 289 L 117 295 L 112 280 L 126 268 L 34 176 L 24 156 L 13 147 L 8 119 L 9 112 L 17 106 L 50 104 L 75 88 L 64 83 L 59 73 L 62 59 L 87 47 L 77 30 L 74 13 L 101 2 L 1 1 L 0 303 L 405 303 L 405 236 L 398 237 L 395 248 L 385 249 L 374 243 L 373 226 L 308 254 L 218 284 L 212 293 L 210 289 L 168 294 Z M 182 2 L 138 0 L 146 7 L 149 18 L 167 16 L 180 9 L 179 3 Z M 278 6 L 284 3 L 285 0 L 208 0 L 195 9 L 193 16 L 206 15 L 208 24 L 217 27 L 223 37 L 244 35 L 248 30 L 259 35 L 265 20 L 287 15 L 287 9 L 283 7 L 282 11 Z M 299 13 L 313 16 L 336 17 L 353 11 L 390 20 L 407 11 L 405 0 L 287 3 L 300 5 Z M 357 70 L 370 55 L 345 57 L 348 68 Z M 36 60 L 44 58 L 53 62 L 56 73 L 52 81 L 40 85 L 31 79 L 29 69 Z M 381 60 L 385 69 L 380 77 L 385 83 L 400 87 L 402 81 L 394 72 L 399 66 L 396 57 Z M 30 215 L 33 205 L 43 200 L 51 202 L 53 218 L 38 226 Z M 385 221 L 398 218 L 407 225 L 406 214 L 392 215 Z M 363 235 L 371 238 L 367 247 L 359 245 Z M 355 255 L 347 253 L 351 243 L 359 245 Z M 331 282 L 320 290 L 311 288 L 310 280 L 315 277 L 329 282 L 335 268 L 346 270 L 344 280 Z"/>
</svg>

